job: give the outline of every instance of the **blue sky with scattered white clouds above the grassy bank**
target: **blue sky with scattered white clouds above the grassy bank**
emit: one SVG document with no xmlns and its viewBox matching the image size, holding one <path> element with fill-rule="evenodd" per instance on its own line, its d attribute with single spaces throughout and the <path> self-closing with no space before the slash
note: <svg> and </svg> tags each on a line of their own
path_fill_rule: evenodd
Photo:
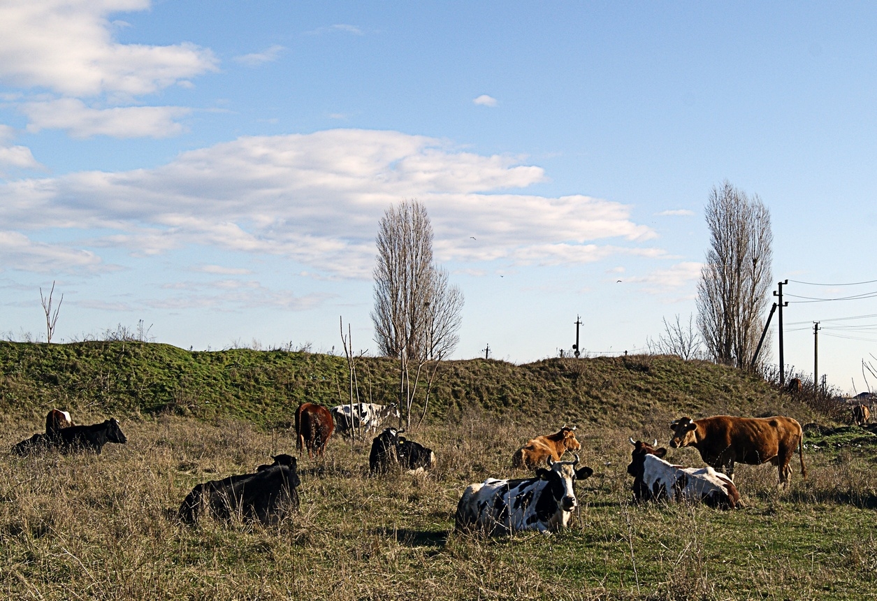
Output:
<svg viewBox="0 0 877 601">
<path fill-rule="evenodd" d="M 382 212 L 417 198 L 456 357 L 635 351 L 695 311 L 702 211 L 758 194 L 786 361 L 866 390 L 877 7 L 0 4 L 0 331 L 374 349 Z M 618 282 L 621 280 L 621 282 Z M 833 319 L 845 318 L 843 321 Z M 856 318 L 856 319 L 846 319 Z M 839 329 L 840 326 L 852 326 Z M 774 359 L 776 349 L 773 349 Z"/>
</svg>

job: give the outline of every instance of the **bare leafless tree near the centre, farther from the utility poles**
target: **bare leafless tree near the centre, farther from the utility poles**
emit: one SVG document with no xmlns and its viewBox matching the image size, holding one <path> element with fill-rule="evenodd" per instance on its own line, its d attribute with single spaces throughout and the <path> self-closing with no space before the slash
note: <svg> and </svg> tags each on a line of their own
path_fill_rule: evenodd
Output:
<svg viewBox="0 0 877 601">
<path fill-rule="evenodd" d="M 422 420 L 439 362 L 457 345 L 463 295 L 432 261 L 432 225 L 423 204 L 390 207 L 375 241 L 374 340 L 381 354 L 399 359 L 399 404 L 410 426 L 421 376 L 428 379 Z"/>
</svg>

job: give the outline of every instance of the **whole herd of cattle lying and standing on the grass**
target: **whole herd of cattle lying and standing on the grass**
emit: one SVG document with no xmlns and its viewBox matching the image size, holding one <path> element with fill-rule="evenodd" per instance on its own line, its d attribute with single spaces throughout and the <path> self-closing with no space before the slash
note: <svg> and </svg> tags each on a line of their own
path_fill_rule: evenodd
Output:
<svg viewBox="0 0 877 601">
<path fill-rule="evenodd" d="M 859 416 L 866 421 L 868 415 Z M 331 410 L 311 403 L 296 409 L 296 445 L 300 454 L 321 457 L 326 443 L 339 432 L 377 432 L 387 419 L 399 419 L 395 405 L 339 405 Z M 706 468 L 686 468 L 664 460 L 667 448 L 658 441 L 647 444 L 630 439 L 633 450 L 627 472 L 633 476 L 633 497 L 637 501 L 683 501 L 731 509 L 738 506 L 740 493 L 733 481 L 734 465 L 771 463 L 777 467 L 779 483 L 788 486 L 790 462 L 797 450 L 801 474 L 807 476 L 803 457 L 803 433 L 795 419 L 737 418 L 726 415 L 703 419 L 682 417 L 670 424 L 669 446 L 694 447 Z M 369 473 L 379 476 L 392 471 L 420 473 L 436 464 L 435 453 L 413 440 L 404 431 L 383 428 L 372 440 Z M 92 426 L 75 426 L 67 411 L 53 409 L 46 415 L 46 433 L 37 433 L 12 447 L 16 454 L 55 448 L 61 453 L 93 450 L 100 454 L 107 442 L 124 444 L 116 419 Z M 557 433 L 537 436 L 512 454 L 517 469 L 535 469 L 535 475 L 517 479 L 488 478 L 470 484 L 457 505 L 458 530 L 486 533 L 514 533 L 537 530 L 550 533 L 568 525 L 578 506 L 575 483 L 594 474 L 579 466 L 581 443 L 575 428 L 564 426 Z M 571 453 L 574 461 L 562 461 Z M 252 474 L 229 476 L 198 484 L 180 506 L 178 517 L 196 522 L 203 514 L 215 519 L 253 519 L 274 524 L 299 504 L 297 487 L 301 481 L 297 460 L 289 454 L 272 457 Z M 543 467 L 545 466 L 545 467 Z M 718 470 L 718 471 L 717 471 Z"/>
</svg>

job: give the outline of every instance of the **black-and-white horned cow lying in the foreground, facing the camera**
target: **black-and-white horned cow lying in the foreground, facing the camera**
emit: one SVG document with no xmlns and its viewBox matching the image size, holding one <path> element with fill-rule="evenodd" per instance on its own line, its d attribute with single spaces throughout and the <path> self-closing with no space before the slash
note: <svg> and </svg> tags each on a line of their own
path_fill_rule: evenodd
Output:
<svg viewBox="0 0 877 601">
<path fill-rule="evenodd" d="M 575 481 L 594 474 L 590 468 L 575 469 L 575 461 L 554 461 L 536 470 L 536 477 L 518 480 L 488 478 L 469 484 L 457 504 L 456 529 L 488 534 L 538 530 L 552 533 L 565 528 L 578 507 Z"/>
</svg>

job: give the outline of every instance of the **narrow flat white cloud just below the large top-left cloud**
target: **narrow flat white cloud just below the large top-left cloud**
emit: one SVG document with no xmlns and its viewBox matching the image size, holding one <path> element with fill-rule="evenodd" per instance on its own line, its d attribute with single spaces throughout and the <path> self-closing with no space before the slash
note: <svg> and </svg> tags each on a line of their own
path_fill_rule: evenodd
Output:
<svg viewBox="0 0 877 601">
<path fill-rule="evenodd" d="M 74 138 L 104 135 L 112 138 L 168 138 L 183 131 L 175 119 L 191 110 L 182 106 L 128 106 L 91 109 L 81 100 L 61 98 L 27 103 L 21 111 L 30 119 L 28 132 L 66 130 Z"/>
</svg>

